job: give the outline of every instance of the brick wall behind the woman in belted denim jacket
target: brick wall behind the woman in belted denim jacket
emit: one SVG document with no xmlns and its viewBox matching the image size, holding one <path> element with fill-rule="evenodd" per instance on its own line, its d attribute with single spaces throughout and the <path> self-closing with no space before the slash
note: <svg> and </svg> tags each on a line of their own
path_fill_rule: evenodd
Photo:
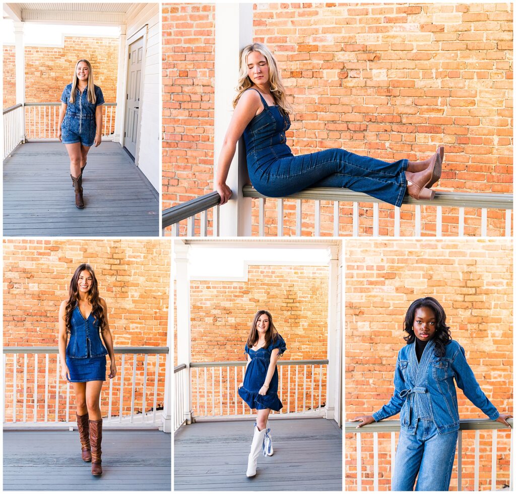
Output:
<svg viewBox="0 0 516 494">
<path fill-rule="evenodd" d="M 482 390 L 512 413 L 512 242 L 364 242 L 346 246 L 345 419 L 372 414 L 393 391 L 403 320 L 416 298 L 443 305 Z M 457 389 L 461 418 L 485 418 Z M 397 419 L 398 416 L 393 417 Z M 462 487 L 474 487 L 474 432 L 463 433 Z M 490 487 L 492 433 L 480 432 L 480 488 Z M 363 483 L 373 489 L 373 445 L 362 438 Z M 509 432 L 498 431 L 497 485 L 509 480 Z M 380 485 L 390 488 L 390 434 L 380 434 Z M 457 459 L 451 490 L 457 488 Z M 346 435 L 346 485 L 356 488 L 356 442 Z"/>
</svg>

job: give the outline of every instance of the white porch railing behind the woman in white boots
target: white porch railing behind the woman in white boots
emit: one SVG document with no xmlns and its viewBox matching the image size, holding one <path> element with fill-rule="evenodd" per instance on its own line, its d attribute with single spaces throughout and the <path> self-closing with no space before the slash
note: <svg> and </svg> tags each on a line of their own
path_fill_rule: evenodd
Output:
<svg viewBox="0 0 516 494">
<path fill-rule="evenodd" d="M 272 414 L 288 418 L 324 417 L 328 401 L 328 360 L 279 361 L 277 365 L 278 396 L 283 408 Z M 196 421 L 252 415 L 249 407 L 238 396 L 238 384 L 244 381 L 245 366 L 246 362 L 190 363 L 190 410 Z M 180 393 L 184 395 L 188 390 L 181 388 Z M 176 396 L 176 399 L 181 400 L 181 396 Z M 184 415 L 182 413 L 180 417 Z M 175 423 L 180 421 L 184 422 L 178 418 Z"/>
</svg>

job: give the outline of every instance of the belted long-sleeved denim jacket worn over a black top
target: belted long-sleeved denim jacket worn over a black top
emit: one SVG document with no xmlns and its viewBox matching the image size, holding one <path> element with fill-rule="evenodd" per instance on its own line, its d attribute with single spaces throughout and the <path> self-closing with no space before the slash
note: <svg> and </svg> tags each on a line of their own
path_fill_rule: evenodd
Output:
<svg viewBox="0 0 516 494">
<path fill-rule="evenodd" d="M 418 419 L 433 420 L 439 434 L 459 429 L 457 386 L 464 395 L 491 420 L 498 418 L 496 407 L 483 394 L 464 349 L 454 340 L 445 346 L 446 353 L 438 357 L 435 343 L 430 340 L 417 362 L 415 345 L 406 345 L 398 352 L 394 372 L 394 394 L 386 405 L 373 414 L 378 422 L 400 413 L 401 427 L 415 434 Z"/>
</svg>

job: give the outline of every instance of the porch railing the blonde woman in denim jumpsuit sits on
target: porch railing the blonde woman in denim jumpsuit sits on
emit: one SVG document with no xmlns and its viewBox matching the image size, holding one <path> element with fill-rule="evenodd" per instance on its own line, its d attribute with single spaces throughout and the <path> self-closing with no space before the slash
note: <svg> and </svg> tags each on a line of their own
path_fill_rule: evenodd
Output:
<svg viewBox="0 0 516 494">
<path fill-rule="evenodd" d="M 265 196 L 261 195 L 250 185 L 246 185 L 243 189 L 244 197 L 255 198 L 258 201 L 258 230 L 259 235 L 265 235 Z M 414 236 L 421 236 L 424 229 L 424 224 L 434 224 L 436 237 L 443 236 L 443 217 L 454 217 L 454 232 L 444 232 L 449 236 L 464 236 L 467 231 L 468 235 L 487 236 L 491 228 L 496 229 L 499 234 L 505 236 L 511 235 L 511 216 L 512 216 L 512 194 L 490 194 L 490 193 L 472 193 L 472 192 L 436 192 L 436 196 L 431 201 L 417 201 L 409 196 L 404 199 L 404 205 L 401 208 L 394 208 L 394 217 L 385 218 L 380 217 L 380 205 L 383 204 L 378 199 L 370 197 L 360 192 L 353 192 L 348 189 L 328 189 L 328 188 L 314 188 L 307 189 L 297 194 L 278 199 L 267 198 L 268 201 L 277 201 L 277 221 L 276 231 L 277 236 L 284 235 L 284 200 L 294 199 L 296 203 L 295 212 L 295 236 L 303 235 L 303 223 L 307 220 L 303 219 L 303 200 L 314 202 L 314 217 L 313 217 L 313 235 L 319 236 L 321 229 L 321 201 L 333 202 L 333 236 L 339 236 L 341 231 L 341 206 L 346 203 L 352 208 L 352 224 L 350 231 L 346 232 L 348 235 L 359 236 L 360 217 L 359 208 L 360 203 L 373 204 L 373 218 L 371 233 L 374 236 L 379 236 L 380 229 L 391 231 L 392 234 L 400 236 L 401 218 L 404 205 L 414 206 L 414 221 L 411 230 Z M 219 206 L 220 196 L 217 192 L 212 192 L 204 196 L 198 197 L 191 201 L 185 202 L 181 205 L 174 206 L 163 212 L 162 226 L 164 233 L 166 228 L 172 227 L 172 235 L 186 235 L 186 236 L 206 236 L 208 230 L 211 230 L 213 236 L 219 235 Z M 423 209 L 424 208 L 424 209 Z M 443 208 L 448 208 L 453 211 L 443 211 Z M 208 229 L 207 212 L 213 209 L 212 227 Z M 471 217 L 466 215 L 466 209 L 473 209 L 475 217 L 472 224 L 467 224 Z M 423 212 L 426 219 L 423 220 Z M 197 217 L 199 215 L 199 217 Z M 428 215 L 431 215 L 428 219 Z M 500 219 L 499 216 L 503 216 Z M 477 218 L 478 217 L 478 221 Z M 456 219 L 455 219 L 456 218 Z M 180 228 L 180 222 L 187 220 L 186 232 Z M 248 218 L 251 222 L 252 218 Z M 490 225 L 490 222 L 496 226 Z M 476 225 L 478 223 L 478 225 Z M 406 230 L 407 227 L 404 226 Z M 183 229 L 184 230 L 184 229 Z M 473 233 L 472 233 L 473 232 Z"/>
</svg>

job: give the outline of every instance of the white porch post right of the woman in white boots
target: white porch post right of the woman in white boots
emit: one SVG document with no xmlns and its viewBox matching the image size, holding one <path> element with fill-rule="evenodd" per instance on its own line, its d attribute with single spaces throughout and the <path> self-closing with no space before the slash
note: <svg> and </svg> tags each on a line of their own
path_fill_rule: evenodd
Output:
<svg viewBox="0 0 516 494">
<path fill-rule="evenodd" d="M 342 332 L 338 321 L 338 246 L 329 249 L 328 280 L 328 377 L 326 390 L 326 418 L 340 419 Z"/>
</svg>

